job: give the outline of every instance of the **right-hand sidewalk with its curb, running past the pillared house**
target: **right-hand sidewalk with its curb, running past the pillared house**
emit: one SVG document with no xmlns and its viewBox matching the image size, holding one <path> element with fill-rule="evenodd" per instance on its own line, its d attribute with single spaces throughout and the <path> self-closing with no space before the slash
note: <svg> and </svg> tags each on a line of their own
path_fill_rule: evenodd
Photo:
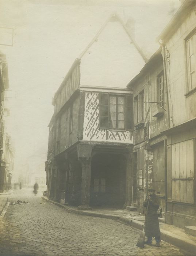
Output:
<svg viewBox="0 0 196 256">
<path fill-rule="evenodd" d="M 82 215 L 88 215 L 88 216 L 100 217 L 100 218 L 116 219 L 140 230 L 142 230 L 144 220 L 145 220 L 145 215 L 136 211 L 129 211 L 126 209 L 109 209 L 109 208 L 107 209 L 96 208 L 92 210 L 81 211 L 81 210 L 78 210 L 77 207 L 65 206 L 61 203 L 51 201 L 47 198 L 47 196 L 42 196 L 42 198 L 45 199 L 47 202 L 53 203 L 75 214 L 82 214 Z M 161 231 L 162 240 L 169 242 L 170 244 L 173 244 L 175 246 L 178 246 L 181 249 L 184 249 L 190 253 L 193 253 L 193 255 L 196 255 L 195 253 L 196 237 L 195 236 L 186 234 L 184 232 L 184 229 L 164 223 L 162 219 L 160 219 L 160 231 Z"/>
</svg>

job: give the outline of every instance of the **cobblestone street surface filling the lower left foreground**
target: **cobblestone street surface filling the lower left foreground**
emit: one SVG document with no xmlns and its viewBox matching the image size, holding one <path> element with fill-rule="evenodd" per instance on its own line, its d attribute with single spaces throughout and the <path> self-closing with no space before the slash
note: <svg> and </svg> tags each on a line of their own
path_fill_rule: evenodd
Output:
<svg viewBox="0 0 196 256">
<path fill-rule="evenodd" d="M 41 199 L 41 194 L 22 189 L 9 195 L 9 202 L 29 204 L 10 204 L 0 216 L 0 255 L 188 255 L 164 241 L 160 248 L 155 241 L 138 248 L 140 231 L 111 219 L 69 213 Z"/>
</svg>

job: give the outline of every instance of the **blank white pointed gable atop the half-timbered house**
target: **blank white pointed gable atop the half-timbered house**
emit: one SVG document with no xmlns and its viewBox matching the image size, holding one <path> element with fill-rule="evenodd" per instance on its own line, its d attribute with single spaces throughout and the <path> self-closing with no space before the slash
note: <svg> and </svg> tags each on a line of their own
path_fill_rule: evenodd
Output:
<svg viewBox="0 0 196 256">
<path fill-rule="evenodd" d="M 126 88 L 146 58 L 118 15 L 112 15 L 90 42 L 81 59 L 80 84 Z"/>
</svg>

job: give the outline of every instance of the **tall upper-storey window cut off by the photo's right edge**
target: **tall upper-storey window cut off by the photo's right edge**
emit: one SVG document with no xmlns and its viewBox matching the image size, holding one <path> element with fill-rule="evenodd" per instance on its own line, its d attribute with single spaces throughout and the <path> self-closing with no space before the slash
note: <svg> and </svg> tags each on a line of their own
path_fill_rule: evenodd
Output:
<svg viewBox="0 0 196 256">
<path fill-rule="evenodd" d="M 189 83 L 188 90 L 192 90 L 196 87 L 196 74 L 195 74 L 195 65 L 196 65 L 196 34 L 192 35 L 191 38 L 187 41 L 187 58 L 188 58 L 188 75 Z"/>
</svg>

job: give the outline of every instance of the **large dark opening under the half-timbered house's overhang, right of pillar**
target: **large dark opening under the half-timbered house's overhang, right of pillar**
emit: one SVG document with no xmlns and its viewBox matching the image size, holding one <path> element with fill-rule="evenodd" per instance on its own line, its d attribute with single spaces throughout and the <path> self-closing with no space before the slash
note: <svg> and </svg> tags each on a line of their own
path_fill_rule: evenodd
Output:
<svg viewBox="0 0 196 256">
<path fill-rule="evenodd" d="M 126 161 L 122 155 L 97 154 L 91 163 L 91 206 L 123 207 Z"/>
</svg>

